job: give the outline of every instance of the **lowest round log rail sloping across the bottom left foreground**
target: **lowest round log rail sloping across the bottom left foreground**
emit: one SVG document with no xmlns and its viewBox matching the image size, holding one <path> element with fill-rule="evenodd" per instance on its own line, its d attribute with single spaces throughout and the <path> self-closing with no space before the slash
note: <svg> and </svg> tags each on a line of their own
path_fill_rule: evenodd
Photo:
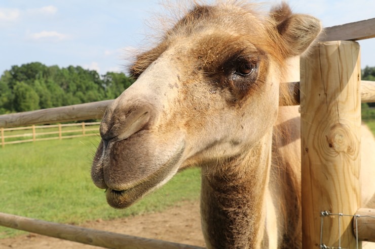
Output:
<svg viewBox="0 0 375 249">
<path fill-rule="evenodd" d="M 22 216 L 0 213 L 0 225 L 50 237 L 114 249 L 203 249 L 199 246 L 178 244 L 84 227 L 52 223 Z"/>
</svg>

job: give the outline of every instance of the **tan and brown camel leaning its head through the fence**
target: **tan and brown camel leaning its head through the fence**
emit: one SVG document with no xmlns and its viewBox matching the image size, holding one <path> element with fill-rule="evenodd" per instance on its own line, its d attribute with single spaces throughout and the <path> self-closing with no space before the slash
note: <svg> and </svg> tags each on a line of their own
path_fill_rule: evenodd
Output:
<svg viewBox="0 0 375 249">
<path fill-rule="evenodd" d="M 136 57 L 136 82 L 107 108 L 91 170 L 110 206 L 199 165 L 208 248 L 302 247 L 299 114 L 280 82 L 322 28 L 287 4 L 257 8 L 195 3 Z"/>
</svg>

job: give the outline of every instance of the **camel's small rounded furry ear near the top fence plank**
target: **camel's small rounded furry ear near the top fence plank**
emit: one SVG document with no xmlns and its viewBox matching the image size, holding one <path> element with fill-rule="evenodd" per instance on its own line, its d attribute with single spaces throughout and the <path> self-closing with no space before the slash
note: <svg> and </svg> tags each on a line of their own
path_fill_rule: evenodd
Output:
<svg viewBox="0 0 375 249">
<path fill-rule="evenodd" d="M 290 57 L 304 54 L 322 31 L 319 19 L 293 14 L 286 3 L 274 8 L 271 17 L 276 21 L 277 31 L 285 41 Z"/>
</svg>

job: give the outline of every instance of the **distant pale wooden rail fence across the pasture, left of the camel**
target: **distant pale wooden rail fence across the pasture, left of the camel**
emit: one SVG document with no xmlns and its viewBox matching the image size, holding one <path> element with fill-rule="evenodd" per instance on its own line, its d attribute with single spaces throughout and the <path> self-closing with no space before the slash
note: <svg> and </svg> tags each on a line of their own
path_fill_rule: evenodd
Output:
<svg viewBox="0 0 375 249">
<path fill-rule="evenodd" d="M 31 125 L 27 127 L 0 128 L 2 147 L 6 144 L 64 139 L 99 135 L 100 122 Z"/>
</svg>

